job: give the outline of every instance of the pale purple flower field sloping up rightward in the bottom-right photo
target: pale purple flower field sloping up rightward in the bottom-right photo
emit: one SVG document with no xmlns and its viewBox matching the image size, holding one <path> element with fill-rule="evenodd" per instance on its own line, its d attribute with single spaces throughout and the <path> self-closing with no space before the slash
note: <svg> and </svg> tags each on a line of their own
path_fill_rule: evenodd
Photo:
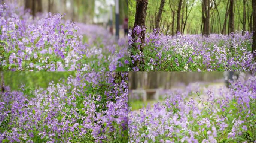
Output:
<svg viewBox="0 0 256 143">
<path fill-rule="evenodd" d="M 256 143 L 256 76 L 229 87 L 165 92 L 162 102 L 129 109 L 129 143 Z"/>
</svg>

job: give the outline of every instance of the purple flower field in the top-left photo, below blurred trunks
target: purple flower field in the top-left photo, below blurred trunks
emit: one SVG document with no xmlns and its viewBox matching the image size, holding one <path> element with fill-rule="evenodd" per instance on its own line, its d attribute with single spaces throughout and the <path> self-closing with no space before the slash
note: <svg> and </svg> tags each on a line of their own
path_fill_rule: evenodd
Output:
<svg viewBox="0 0 256 143">
<path fill-rule="evenodd" d="M 0 71 L 127 71 L 127 39 L 100 26 L 51 13 L 32 19 L 15 3 L 1 5 L 0 17 Z"/>
</svg>

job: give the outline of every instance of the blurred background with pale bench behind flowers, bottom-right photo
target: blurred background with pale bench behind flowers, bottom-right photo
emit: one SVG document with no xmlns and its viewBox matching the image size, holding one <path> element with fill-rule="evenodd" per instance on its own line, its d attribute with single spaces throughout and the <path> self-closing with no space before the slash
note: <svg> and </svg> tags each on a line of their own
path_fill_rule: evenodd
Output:
<svg viewBox="0 0 256 143">
<path fill-rule="evenodd" d="M 203 101 L 211 90 L 214 97 L 222 96 L 221 89 L 227 88 L 230 80 L 246 77 L 251 72 L 129 72 L 129 105 L 132 111 L 164 102 L 166 98 L 180 95 L 187 100 Z"/>
</svg>

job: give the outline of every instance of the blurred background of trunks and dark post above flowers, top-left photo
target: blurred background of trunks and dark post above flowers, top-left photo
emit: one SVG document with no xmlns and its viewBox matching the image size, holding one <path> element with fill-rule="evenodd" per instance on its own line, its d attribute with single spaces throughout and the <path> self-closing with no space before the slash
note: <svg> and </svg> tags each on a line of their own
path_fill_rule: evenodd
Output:
<svg viewBox="0 0 256 143">
<path fill-rule="evenodd" d="M 65 20 L 100 25 L 116 36 L 124 37 L 128 29 L 128 0 L 0 0 L 17 3 L 29 9 L 31 15 L 60 13 Z M 116 33 L 118 31 L 118 33 Z M 118 35 L 117 35 L 118 34 Z"/>
</svg>

